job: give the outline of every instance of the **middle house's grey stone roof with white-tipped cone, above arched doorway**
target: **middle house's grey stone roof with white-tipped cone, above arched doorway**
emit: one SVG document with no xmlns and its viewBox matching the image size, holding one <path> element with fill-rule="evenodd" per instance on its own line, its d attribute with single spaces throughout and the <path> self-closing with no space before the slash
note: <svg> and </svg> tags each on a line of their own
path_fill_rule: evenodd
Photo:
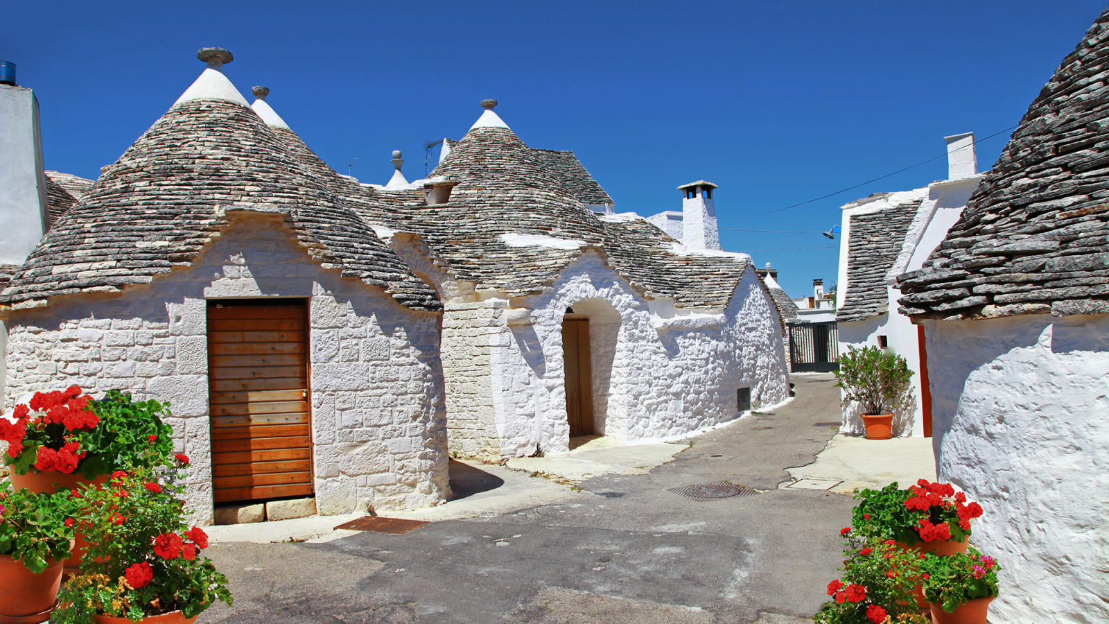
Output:
<svg viewBox="0 0 1109 624">
<path fill-rule="evenodd" d="M 499 117 L 482 114 L 431 172 L 455 183 L 449 202 L 435 207 L 425 204 L 424 191 L 383 190 L 339 175 L 287 127 L 272 130 L 363 220 L 418 234 L 436 263 L 479 290 L 540 293 L 592 250 L 649 298 L 720 309 L 750 264 L 739 254 L 679 253 L 678 241 L 641 219 L 599 219 L 580 198 L 582 174 L 592 197 L 608 200 L 598 203 L 611 199 L 580 162 L 580 171 L 568 174 L 567 157 L 577 162 L 572 152 L 529 148 Z M 521 234 L 547 244 L 513 242 Z"/>
</svg>

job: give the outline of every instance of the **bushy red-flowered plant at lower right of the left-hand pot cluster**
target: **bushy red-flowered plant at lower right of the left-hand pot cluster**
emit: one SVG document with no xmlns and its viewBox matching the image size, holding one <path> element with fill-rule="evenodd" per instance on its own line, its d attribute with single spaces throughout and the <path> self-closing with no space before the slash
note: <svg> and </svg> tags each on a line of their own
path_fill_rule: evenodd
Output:
<svg viewBox="0 0 1109 624">
<path fill-rule="evenodd" d="M 189 463 L 181 454 L 176 461 Z M 207 535 L 185 522 L 176 476 L 144 465 L 81 487 L 80 526 L 98 540 L 62 586 L 52 622 L 180 624 L 216 600 L 231 604 L 226 577 L 201 554 Z"/>
</svg>

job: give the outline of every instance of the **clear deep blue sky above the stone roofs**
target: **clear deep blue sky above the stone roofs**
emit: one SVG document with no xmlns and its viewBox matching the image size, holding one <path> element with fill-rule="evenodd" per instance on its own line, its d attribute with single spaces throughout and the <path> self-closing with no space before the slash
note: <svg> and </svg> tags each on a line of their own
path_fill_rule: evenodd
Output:
<svg viewBox="0 0 1109 624">
<path fill-rule="evenodd" d="M 772 6 L 777 4 L 777 6 Z M 720 185 L 720 225 L 827 230 L 838 207 L 946 177 L 943 137 L 1015 125 L 1103 1 L 10 2 L 0 59 L 41 107 L 48 169 L 95 178 L 230 49 L 226 74 L 317 153 L 384 183 L 389 153 L 461 138 L 484 98 L 529 145 L 574 150 L 618 211 Z M 979 168 L 1008 133 L 978 145 Z M 836 280 L 818 234 L 723 231 L 792 296 Z M 817 248 L 817 249 L 790 249 Z"/>
</svg>

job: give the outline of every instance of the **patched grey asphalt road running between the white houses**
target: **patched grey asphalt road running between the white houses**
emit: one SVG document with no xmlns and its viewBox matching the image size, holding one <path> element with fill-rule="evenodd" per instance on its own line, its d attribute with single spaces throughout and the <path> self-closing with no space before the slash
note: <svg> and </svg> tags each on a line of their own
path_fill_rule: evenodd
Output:
<svg viewBox="0 0 1109 624">
<path fill-rule="evenodd" d="M 203 622 L 811 622 L 841 563 L 852 500 L 779 490 L 836 429 L 831 375 L 693 439 L 642 475 L 582 483 L 578 501 L 325 544 L 215 544 L 235 596 Z M 820 424 L 818 424 L 820 423 Z M 754 495 L 700 502 L 669 487 L 730 481 Z"/>
</svg>

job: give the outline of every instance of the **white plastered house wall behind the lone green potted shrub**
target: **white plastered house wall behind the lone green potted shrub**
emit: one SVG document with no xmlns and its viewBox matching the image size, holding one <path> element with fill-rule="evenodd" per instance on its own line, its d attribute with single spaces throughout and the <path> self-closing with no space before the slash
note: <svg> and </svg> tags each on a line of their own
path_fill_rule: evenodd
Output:
<svg viewBox="0 0 1109 624">
<path fill-rule="evenodd" d="M 846 353 L 848 346 L 877 346 L 878 336 L 886 336 L 886 350 L 905 358 L 913 371 L 909 401 L 895 410 L 893 434 L 897 436 L 924 435 L 924 393 L 920 384 L 920 349 L 919 330 L 908 316 L 897 311 L 897 300 L 901 291 L 896 288 L 897 275 L 919 269 L 936 246 L 943 242 L 947 231 L 955 224 L 970 193 L 981 181 L 980 174 L 959 180 L 942 180 L 933 182 L 924 189 L 891 193 L 888 197 L 852 202 L 843 208 L 841 223 L 842 241 L 840 245 L 840 271 L 836 291 L 836 309 L 843 306 L 848 289 L 847 279 L 847 241 L 851 240 L 851 218 L 886 210 L 891 205 L 923 200 L 909 224 L 901 252 L 893 266 L 886 273 L 886 296 L 889 302 L 887 312 L 858 321 L 840 321 L 836 323 L 840 341 L 840 353 Z M 930 355 L 929 355 L 930 358 Z M 851 434 L 863 434 L 862 409 L 855 404 L 845 405 L 842 413 L 841 431 Z"/>
</svg>

